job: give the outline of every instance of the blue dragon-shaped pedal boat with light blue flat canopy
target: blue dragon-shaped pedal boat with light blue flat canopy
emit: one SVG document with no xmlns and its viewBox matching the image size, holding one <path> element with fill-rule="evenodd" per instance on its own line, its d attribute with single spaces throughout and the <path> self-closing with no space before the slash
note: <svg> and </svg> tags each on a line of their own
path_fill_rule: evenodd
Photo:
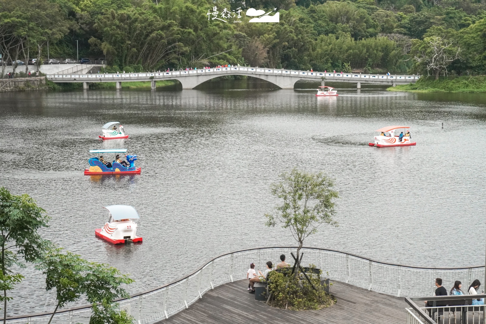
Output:
<svg viewBox="0 0 486 324">
<path fill-rule="evenodd" d="M 107 149 L 107 150 L 90 150 L 89 153 L 96 154 L 110 154 L 110 153 L 126 153 L 126 148 L 121 149 Z M 89 169 L 85 169 L 85 176 L 92 175 L 113 175 L 113 174 L 140 174 L 142 169 L 135 166 L 135 161 L 137 161 L 137 155 L 125 155 L 126 162 L 130 163 L 129 166 L 124 166 L 121 163 L 111 162 L 108 164 L 103 164 L 100 158 L 94 157 L 88 160 Z M 106 159 L 107 161 L 107 159 Z"/>
</svg>

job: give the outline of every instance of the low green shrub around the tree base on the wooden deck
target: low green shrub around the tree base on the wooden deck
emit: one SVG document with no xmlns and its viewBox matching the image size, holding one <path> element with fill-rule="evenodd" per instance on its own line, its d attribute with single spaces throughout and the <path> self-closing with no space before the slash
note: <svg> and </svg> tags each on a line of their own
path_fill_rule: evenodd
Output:
<svg viewBox="0 0 486 324">
<path fill-rule="evenodd" d="M 334 296 L 324 291 L 325 287 L 321 285 L 321 270 L 319 274 L 314 273 L 314 270 L 315 266 L 311 265 L 309 272 L 306 272 L 312 284 L 307 281 L 303 273 L 299 273 L 297 277 L 292 275 L 292 268 L 270 271 L 268 274 L 270 305 L 304 310 L 321 309 L 336 303 Z"/>
</svg>

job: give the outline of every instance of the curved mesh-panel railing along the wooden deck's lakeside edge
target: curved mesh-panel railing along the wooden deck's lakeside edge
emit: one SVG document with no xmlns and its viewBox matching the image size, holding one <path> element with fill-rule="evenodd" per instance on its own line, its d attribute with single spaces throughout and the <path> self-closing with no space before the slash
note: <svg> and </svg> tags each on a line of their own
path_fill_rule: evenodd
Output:
<svg viewBox="0 0 486 324">
<path fill-rule="evenodd" d="M 254 262 L 257 269 L 263 270 L 267 261 L 277 262 L 282 253 L 290 258 L 290 252 L 295 252 L 295 249 L 267 247 L 221 254 L 183 278 L 134 294 L 130 299 L 119 300 L 119 303 L 135 317 L 137 324 L 169 318 L 202 298 L 209 289 L 244 279 L 250 263 Z M 434 294 L 434 279 L 437 277 L 442 278 L 443 285 L 451 287 L 455 280 L 469 283 L 485 275 L 484 266 L 420 268 L 379 262 L 329 249 L 306 247 L 301 251 L 304 253 L 303 264 L 316 265 L 323 270 L 323 276 L 331 280 L 395 296 L 431 296 Z M 87 324 L 90 315 L 90 306 L 70 308 L 57 313 L 52 324 Z M 31 314 L 11 317 L 7 323 L 47 324 L 50 317 L 48 313 Z"/>
</svg>

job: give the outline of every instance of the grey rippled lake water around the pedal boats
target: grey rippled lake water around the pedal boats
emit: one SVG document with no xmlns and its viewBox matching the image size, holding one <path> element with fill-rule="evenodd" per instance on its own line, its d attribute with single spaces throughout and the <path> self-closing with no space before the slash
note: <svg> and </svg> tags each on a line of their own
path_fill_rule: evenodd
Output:
<svg viewBox="0 0 486 324">
<path fill-rule="evenodd" d="M 46 209 L 46 238 L 130 273 L 131 293 L 220 253 L 294 244 L 263 225 L 278 203 L 270 184 L 293 167 L 326 172 L 341 195 L 340 227 L 322 226 L 307 246 L 416 266 L 484 264 L 486 96 L 337 84 L 339 97 L 316 98 L 317 86 L 0 93 L 0 185 Z M 130 138 L 99 140 L 109 121 Z M 368 146 L 375 129 L 399 124 L 417 146 Z M 137 154 L 141 175 L 84 176 L 88 150 L 104 148 Z M 138 210 L 143 244 L 95 237 L 110 204 Z M 9 314 L 53 309 L 42 275 L 22 273 Z"/>
</svg>

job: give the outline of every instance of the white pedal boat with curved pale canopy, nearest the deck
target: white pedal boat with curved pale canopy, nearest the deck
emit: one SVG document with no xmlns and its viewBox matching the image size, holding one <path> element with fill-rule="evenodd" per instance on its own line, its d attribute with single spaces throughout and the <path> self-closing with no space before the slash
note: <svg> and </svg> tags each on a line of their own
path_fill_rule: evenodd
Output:
<svg viewBox="0 0 486 324">
<path fill-rule="evenodd" d="M 103 228 L 94 230 L 96 237 L 112 244 L 142 242 L 142 238 L 137 236 L 137 223 L 133 221 L 140 218 L 135 208 L 128 205 L 110 205 L 103 208 L 108 210 L 110 218 Z"/>
</svg>

